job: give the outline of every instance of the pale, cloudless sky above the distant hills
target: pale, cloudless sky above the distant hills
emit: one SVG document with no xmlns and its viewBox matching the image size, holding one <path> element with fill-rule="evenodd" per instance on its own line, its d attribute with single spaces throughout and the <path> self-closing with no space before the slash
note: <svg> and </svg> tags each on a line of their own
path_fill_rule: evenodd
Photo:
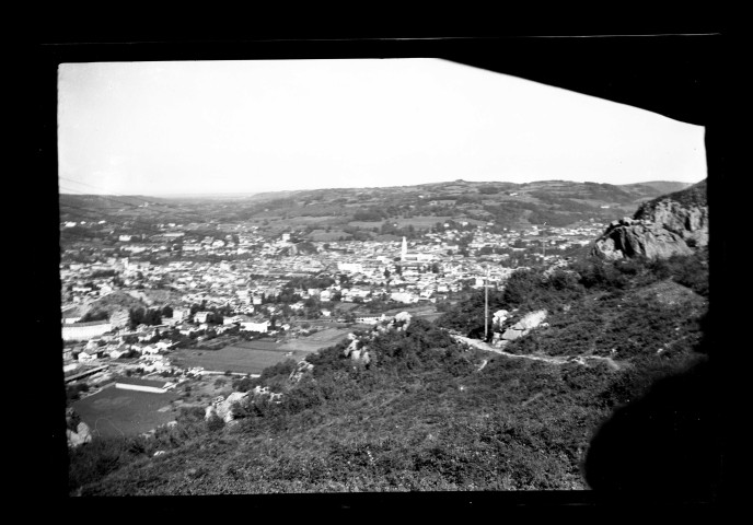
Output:
<svg viewBox="0 0 753 525">
<path fill-rule="evenodd" d="M 63 63 L 60 192 L 706 177 L 704 128 L 438 59 Z"/>
</svg>

